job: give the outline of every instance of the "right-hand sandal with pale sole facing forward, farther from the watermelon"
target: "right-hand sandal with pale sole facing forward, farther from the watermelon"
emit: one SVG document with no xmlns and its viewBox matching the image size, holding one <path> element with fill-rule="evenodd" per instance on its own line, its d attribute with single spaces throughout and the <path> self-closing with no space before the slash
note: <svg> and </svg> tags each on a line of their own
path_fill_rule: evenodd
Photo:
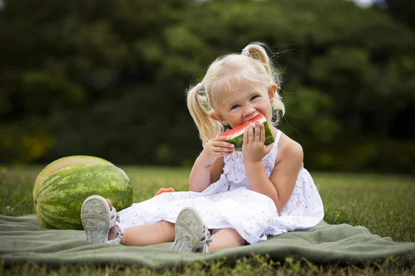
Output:
<svg viewBox="0 0 415 276">
<path fill-rule="evenodd" d="M 194 208 L 183 208 L 176 219 L 176 238 L 170 250 L 181 252 L 195 252 L 203 248 L 208 253 L 209 243 L 212 242 L 208 228 Z"/>
</svg>

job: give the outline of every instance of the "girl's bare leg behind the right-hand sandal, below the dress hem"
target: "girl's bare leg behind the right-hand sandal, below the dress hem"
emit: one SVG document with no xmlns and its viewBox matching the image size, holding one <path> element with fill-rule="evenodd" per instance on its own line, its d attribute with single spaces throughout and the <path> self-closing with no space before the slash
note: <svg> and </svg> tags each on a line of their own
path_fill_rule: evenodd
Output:
<svg viewBox="0 0 415 276">
<path fill-rule="evenodd" d="M 244 246 L 246 240 L 239 235 L 237 230 L 233 228 L 219 229 L 214 235 L 212 235 L 212 242 L 209 244 L 209 252 L 215 250 L 232 248 L 237 246 Z"/>
</svg>

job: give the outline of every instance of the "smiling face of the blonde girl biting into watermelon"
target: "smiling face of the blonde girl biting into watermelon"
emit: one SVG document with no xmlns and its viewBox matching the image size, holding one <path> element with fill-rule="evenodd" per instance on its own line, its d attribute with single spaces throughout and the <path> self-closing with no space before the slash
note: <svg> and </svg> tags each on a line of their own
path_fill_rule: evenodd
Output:
<svg viewBox="0 0 415 276">
<path fill-rule="evenodd" d="M 270 122 L 273 117 L 271 101 L 276 90 L 275 84 L 267 88 L 259 82 L 235 83 L 232 89 L 223 91 L 221 106 L 212 112 L 211 116 L 232 128 L 245 123 L 259 113 L 264 114 Z"/>
</svg>

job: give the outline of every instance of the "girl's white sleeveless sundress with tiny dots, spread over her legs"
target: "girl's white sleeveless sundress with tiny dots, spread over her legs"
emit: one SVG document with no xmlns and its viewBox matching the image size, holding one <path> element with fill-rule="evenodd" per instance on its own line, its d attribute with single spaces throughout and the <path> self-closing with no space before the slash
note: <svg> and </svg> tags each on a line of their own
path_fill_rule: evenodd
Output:
<svg viewBox="0 0 415 276">
<path fill-rule="evenodd" d="M 272 150 L 262 159 L 270 177 L 277 159 L 278 130 Z M 128 228 L 165 220 L 174 223 L 180 210 L 195 208 L 209 229 L 234 228 L 249 244 L 264 241 L 268 235 L 304 230 L 324 217 L 322 199 L 311 175 L 299 171 L 293 195 L 280 212 L 270 197 L 249 190 L 242 152 L 224 158 L 220 179 L 201 193 L 162 193 L 121 210 L 120 227 Z"/>
</svg>

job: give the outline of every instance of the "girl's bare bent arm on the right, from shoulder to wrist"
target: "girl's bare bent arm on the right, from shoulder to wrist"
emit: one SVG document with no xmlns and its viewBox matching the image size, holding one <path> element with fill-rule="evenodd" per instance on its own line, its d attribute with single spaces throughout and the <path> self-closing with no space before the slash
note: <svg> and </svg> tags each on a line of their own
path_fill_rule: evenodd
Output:
<svg viewBox="0 0 415 276">
<path fill-rule="evenodd" d="M 275 165 L 269 179 L 262 161 L 245 163 L 250 189 L 273 199 L 278 213 L 288 203 L 299 170 L 303 166 L 302 147 L 293 140 L 287 142 L 278 152 L 280 161 Z"/>
</svg>

